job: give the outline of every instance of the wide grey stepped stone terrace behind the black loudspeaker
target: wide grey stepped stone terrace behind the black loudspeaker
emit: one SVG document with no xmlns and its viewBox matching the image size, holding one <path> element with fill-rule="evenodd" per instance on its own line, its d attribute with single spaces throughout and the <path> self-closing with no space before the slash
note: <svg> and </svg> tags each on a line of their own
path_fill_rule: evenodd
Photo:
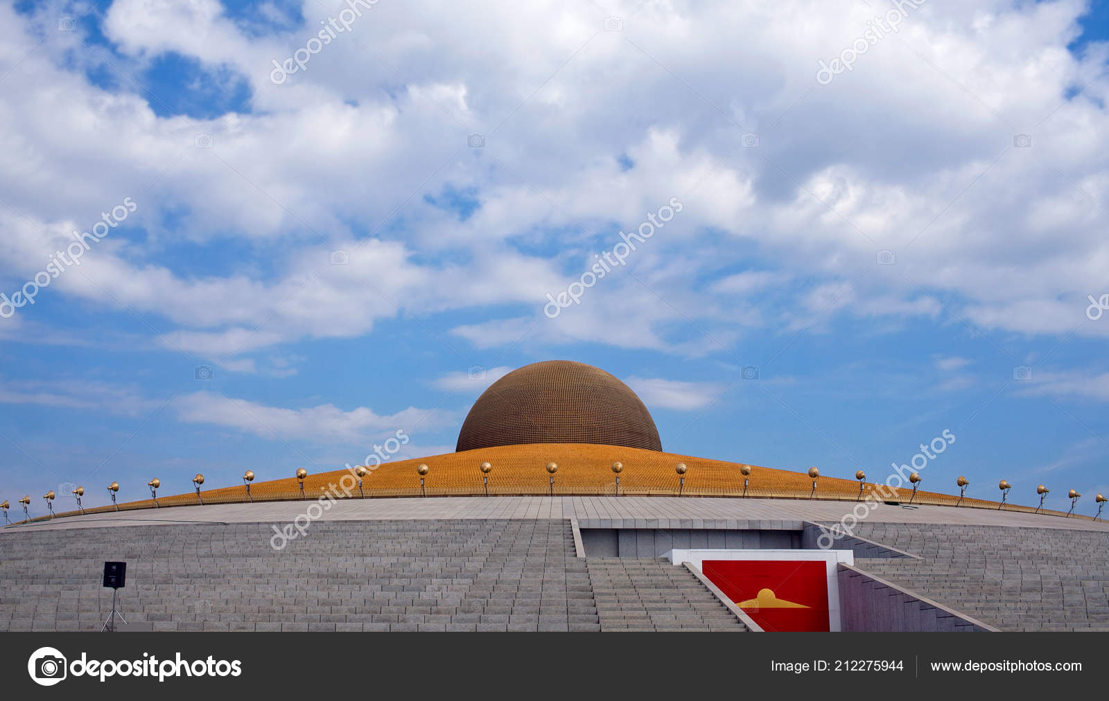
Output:
<svg viewBox="0 0 1109 701">
<path fill-rule="evenodd" d="M 6 534 L 0 630 L 99 630 L 125 560 L 128 629 L 599 630 L 566 520 L 317 521 Z"/>
</svg>

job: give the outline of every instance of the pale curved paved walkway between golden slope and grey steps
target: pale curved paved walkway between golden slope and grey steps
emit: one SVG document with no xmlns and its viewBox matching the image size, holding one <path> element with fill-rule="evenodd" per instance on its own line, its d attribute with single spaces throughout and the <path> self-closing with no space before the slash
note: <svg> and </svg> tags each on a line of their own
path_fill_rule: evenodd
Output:
<svg viewBox="0 0 1109 701">
<path fill-rule="evenodd" d="M 112 511 L 0 529 L 14 531 L 155 524 L 292 522 L 305 501 L 222 504 Z M 800 528 L 801 520 L 838 521 L 854 501 L 701 497 L 428 497 L 344 499 L 321 520 L 558 519 L 586 527 L 623 528 Z M 866 524 L 950 524 L 1109 531 L 1109 524 L 995 509 L 878 505 Z"/>
</svg>

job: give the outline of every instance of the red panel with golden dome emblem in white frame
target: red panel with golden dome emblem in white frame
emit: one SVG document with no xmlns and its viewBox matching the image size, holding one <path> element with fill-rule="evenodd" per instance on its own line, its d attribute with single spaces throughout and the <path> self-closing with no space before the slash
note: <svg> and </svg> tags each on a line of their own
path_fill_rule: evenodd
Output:
<svg viewBox="0 0 1109 701">
<path fill-rule="evenodd" d="M 701 571 L 767 631 L 828 630 L 823 560 L 704 560 Z"/>
</svg>

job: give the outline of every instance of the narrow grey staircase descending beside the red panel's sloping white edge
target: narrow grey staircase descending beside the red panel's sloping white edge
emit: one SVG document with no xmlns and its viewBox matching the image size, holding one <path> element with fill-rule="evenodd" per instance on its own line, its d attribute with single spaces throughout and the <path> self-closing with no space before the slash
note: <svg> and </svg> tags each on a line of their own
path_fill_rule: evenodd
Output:
<svg viewBox="0 0 1109 701">
<path fill-rule="evenodd" d="M 747 630 L 684 567 L 632 558 L 586 562 L 602 630 Z"/>
</svg>

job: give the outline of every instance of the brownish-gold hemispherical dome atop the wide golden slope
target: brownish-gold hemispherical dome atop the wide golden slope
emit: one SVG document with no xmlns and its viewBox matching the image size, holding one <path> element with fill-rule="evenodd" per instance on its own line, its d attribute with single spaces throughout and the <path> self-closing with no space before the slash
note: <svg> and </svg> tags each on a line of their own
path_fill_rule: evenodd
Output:
<svg viewBox="0 0 1109 701">
<path fill-rule="evenodd" d="M 628 385 L 570 360 L 533 363 L 495 382 L 462 421 L 456 450 L 539 443 L 662 450 L 651 413 Z"/>
</svg>

